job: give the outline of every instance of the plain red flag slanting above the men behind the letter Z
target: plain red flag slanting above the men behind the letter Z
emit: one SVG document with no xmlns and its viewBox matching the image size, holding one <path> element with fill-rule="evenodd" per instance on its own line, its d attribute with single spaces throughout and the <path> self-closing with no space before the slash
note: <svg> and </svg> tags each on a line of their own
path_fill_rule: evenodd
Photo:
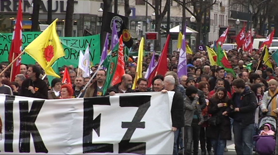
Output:
<svg viewBox="0 0 278 155">
<path fill-rule="evenodd" d="M 155 69 L 153 69 L 153 72 L 151 73 L 151 75 L 149 76 L 149 84 L 148 86 L 151 86 L 151 82 L 153 80 L 153 78 L 156 75 L 165 75 L 168 67 L 167 67 L 167 53 L 168 53 L 168 47 L 169 47 L 169 41 L 170 41 L 170 35 L 168 34 L 167 36 L 167 40 L 166 43 L 164 45 L 164 48 L 162 50 L 161 56 L 159 57 L 159 60 L 157 62 L 157 65 L 155 67 Z"/>
</svg>

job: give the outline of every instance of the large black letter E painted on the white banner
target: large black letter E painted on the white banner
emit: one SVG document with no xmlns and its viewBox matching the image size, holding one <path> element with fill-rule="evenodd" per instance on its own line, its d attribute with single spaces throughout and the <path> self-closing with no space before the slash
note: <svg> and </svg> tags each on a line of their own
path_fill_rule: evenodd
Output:
<svg viewBox="0 0 278 155">
<path fill-rule="evenodd" d="M 113 144 L 92 143 L 93 130 L 100 136 L 100 117 L 99 114 L 94 119 L 93 105 L 110 106 L 109 96 L 84 98 L 84 118 L 83 118 L 83 153 L 106 153 L 113 152 Z"/>
</svg>

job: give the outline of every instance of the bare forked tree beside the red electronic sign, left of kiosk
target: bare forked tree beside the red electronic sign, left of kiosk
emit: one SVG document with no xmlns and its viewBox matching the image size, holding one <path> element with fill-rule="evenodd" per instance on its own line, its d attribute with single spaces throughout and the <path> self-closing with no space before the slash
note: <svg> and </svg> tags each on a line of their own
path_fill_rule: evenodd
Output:
<svg viewBox="0 0 278 155">
<path fill-rule="evenodd" d="M 161 36 L 160 36 L 160 29 L 161 29 L 161 23 L 164 18 L 164 16 L 167 13 L 167 4 L 169 3 L 170 0 L 166 0 L 165 6 L 162 11 L 162 0 L 155 0 L 155 6 L 153 6 L 151 3 L 149 3 L 146 0 L 142 0 L 148 3 L 150 5 L 154 12 L 155 12 L 155 32 L 158 32 L 158 40 L 154 41 L 154 50 L 160 51 L 160 42 L 161 42 Z"/>
</svg>

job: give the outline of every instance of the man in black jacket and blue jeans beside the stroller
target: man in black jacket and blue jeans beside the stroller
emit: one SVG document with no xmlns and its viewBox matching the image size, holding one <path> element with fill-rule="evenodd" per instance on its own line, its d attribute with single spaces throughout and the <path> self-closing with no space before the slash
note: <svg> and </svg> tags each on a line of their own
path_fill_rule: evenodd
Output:
<svg viewBox="0 0 278 155">
<path fill-rule="evenodd" d="M 245 87 L 243 79 L 236 79 L 232 83 L 235 93 L 233 94 L 234 111 L 230 117 L 234 119 L 233 132 L 235 137 L 235 151 L 237 154 L 252 154 L 254 113 L 257 108 L 257 97 L 249 87 Z M 226 115 L 228 112 L 223 112 Z"/>
</svg>

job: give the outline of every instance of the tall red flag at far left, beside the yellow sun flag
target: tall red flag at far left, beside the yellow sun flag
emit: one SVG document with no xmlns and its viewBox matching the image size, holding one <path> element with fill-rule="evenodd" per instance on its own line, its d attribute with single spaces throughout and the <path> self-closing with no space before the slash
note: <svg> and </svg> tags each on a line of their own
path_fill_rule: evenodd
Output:
<svg viewBox="0 0 278 155">
<path fill-rule="evenodd" d="M 19 0 L 17 19 L 15 21 L 14 32 L 12 35 L 12 44 L 9 53 L 9 61 L 12 62 L 22 50 L 22 0 Z M 12 65 L 11 81 L 14 81 L 15 75 L 20 74 L 21 58 Z"/>
</svg>

